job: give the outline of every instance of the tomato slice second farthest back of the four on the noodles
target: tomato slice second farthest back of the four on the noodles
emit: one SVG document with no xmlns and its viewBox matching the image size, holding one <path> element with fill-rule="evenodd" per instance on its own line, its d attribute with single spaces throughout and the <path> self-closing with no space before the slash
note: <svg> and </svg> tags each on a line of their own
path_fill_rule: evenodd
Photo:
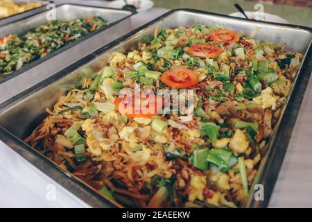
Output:
<svg viewBox="0 0 312 222">
<path fill-rule="evenodd" d="M 211 46 L 210 44 L 193 44 L 187 49 L 187 53 L 200 58 L 214 58 L 222 54 L 223 49 L 219 46 Z"/>
</svg>

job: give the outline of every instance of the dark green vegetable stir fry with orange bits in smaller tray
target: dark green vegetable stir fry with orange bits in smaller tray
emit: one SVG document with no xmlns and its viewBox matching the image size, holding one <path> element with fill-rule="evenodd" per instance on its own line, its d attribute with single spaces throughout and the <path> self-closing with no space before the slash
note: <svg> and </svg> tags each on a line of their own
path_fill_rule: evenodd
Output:
<svg viewBox="0 0 312 222">
<path fill-rule="evenodd" d="M 23 35 L 0 38 L 0 78 L 106 25 L 100 17 L 55 20 Z"/>
</svg>

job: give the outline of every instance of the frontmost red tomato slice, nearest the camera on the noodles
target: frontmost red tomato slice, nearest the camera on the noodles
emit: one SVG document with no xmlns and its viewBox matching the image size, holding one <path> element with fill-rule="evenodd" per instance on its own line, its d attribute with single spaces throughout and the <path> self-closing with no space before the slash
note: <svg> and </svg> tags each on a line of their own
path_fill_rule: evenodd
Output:
<svg viewBox="0 0 312 222">
<path fill-rule="evenodd" d="M 153 93 L 132 93 L 116 98 L 114 105 L 121 114 L 130 119 L 135 117 L 150 118 L 155 116 L 159 110 L 162 110 L 164 99 Z"/>
</svg>

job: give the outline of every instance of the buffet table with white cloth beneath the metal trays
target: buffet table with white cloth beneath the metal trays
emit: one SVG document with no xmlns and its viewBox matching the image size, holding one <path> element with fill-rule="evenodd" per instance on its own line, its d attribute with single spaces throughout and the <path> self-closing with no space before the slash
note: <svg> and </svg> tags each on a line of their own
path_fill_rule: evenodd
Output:
<svg viewBox="0 0 312 222">
<path fill-rule="evenodd" d="M 67 2 L 105 6 L 105 2 L 98 1 Z M 164 3 L 164 1 L 157 2 L 156 6 L 159 6 L 160 3 Z M 165 7 L 164 4 L 161 6 Z M 171 7 L 171 5 L 169 4 L 168 7 Z M 184 7 L 187 8 L 187 6 Z M 152 8 L 139 12 L 137 15 L 132 16 L 130 27 L 125 28 L 123 22 L 117 25 L 114 28 L 116 32 L 112 33 L 110 40 L 128 33 L 166 11 L 168 10 L 164 8 Z M 309 16 L 311 17 L 311 13 Z M 292 22 L 291 19 L 289 21 Z M 309 26 L 310 24 L 306 25 Z M 87 42 L 92 42 L 92 45 L 87 45 Z M 80 48 L 83 49 L 83 53 L 75 53 L 78 50 L 77 46 L 63 52 L 71 57 L 71 61 L 58 61 L 56 58 L 52 58 L 55 60 L 55 64 L 58 65 L 49 67 L 49 71 L 51 71 L 51 74 L 59 71 L 66 67 L 68 62 L 71 63 L 74 60 L 83 58 L 83 56 L 87 56 L 100 48 L 104 43 L 107 42 L 103 42 L 101 35 L 95 35 L 92 37 L 92 40 L 84 42 L 83 46 L 80 45 L 80 47 L 83 47 Z M 44 62 L 40 66 L 44 69 Z M 1 91 L 0 89 L 0 102 L 2 103 L 11 96 L 15 96 L 24 89 L 39 83 L 44 78 L 46 77 L 33 74 L 31 77 L 25 78 L 23 85 L 15 86 L 14 88 L 10 87 L 10 90 L 7 88 L 7 90 Z M 312 207 L 311 99 L 312 80 L 310 79 L 284 163 L 270 198 L 269 207 Z M 24 158 L 17 155 L 15 151 L 12 151 L 3 142 L 0 142 L 0 153 L 0 207 L 89 207 L 82 200 L 73 196 L 69 191 L 33 167 Z M 264 187 L 264 189 L 266 188 Z M 51 191 L 55 191 L 55 198 L 51 198 Z"/>
</svg>

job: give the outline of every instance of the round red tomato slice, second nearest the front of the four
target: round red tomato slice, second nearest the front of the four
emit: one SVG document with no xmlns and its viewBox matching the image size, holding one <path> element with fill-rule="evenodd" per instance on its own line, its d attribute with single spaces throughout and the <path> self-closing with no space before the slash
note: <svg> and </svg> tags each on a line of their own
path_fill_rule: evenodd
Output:
<svg viewBox="0 0 312 222">
<path fill-rule="evenodd" d="M 162 83 L 174 88 L 187 88 L 199 82 L 196 71 L 184 67 L 175 67 L 160 76 Z"/>
</svg>

